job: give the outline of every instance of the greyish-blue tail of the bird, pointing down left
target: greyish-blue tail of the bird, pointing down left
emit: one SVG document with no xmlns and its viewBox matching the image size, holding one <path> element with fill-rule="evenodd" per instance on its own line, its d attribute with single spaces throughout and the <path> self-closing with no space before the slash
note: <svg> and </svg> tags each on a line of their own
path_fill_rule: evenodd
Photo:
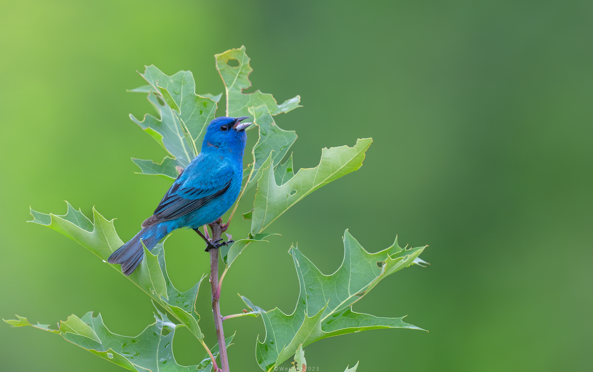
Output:
<svg viewBox="0 0 593 372">
<path fill-rule="evenodd" d="M 158 226 L 157 224 L 144 227 L 144 229 L 140 230 L 136 236 L 122 245 L 117 251 L 113 252 L 109 256 L 109 259 L 107 259 L 107 262 L 110 264 L 121 264 L 123 274 L 130 275 L 136 270 L 144 258 L 142 242 L 144 242 L 144 245 L 150 251 L 157 245 L 158 241 L 166 235 L 166 226 Z"/>
</svg>

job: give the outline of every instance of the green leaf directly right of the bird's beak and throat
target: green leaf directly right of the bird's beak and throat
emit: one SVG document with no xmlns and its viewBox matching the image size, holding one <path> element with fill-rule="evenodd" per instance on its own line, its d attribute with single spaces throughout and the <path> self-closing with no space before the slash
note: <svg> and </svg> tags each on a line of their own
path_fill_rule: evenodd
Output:
<svg viewBox="0 0 593 372">
<path fill-rule="evenodd" d="M 253 187 L 261 177 L 262 165 L 270 154 L 272 154 L 272 162 L 278 164 L 297 140 L 297 133 L 294 130 L 283 130 L 276 125 L 266 106 L 251 107 L 249 112 L 254 117 L 254 123 L 259 126 L 259 140 L 251 150 L 253 163 L 250 164 L 247 174 L 244 172 L 243 175 L 243 178 L 248 176 L 246 190 Z"/>
</svg>

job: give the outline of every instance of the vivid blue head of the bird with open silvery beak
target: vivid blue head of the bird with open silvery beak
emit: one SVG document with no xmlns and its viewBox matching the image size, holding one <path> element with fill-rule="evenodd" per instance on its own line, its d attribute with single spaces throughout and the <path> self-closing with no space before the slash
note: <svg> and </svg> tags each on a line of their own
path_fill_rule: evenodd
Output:
<svg viewBox="0 0 593 372">
<path fill-rule="evenodd" d="M 241 121 L 248 118 L 247 116 L 221 116 L 212 120 L 206 129 L 202 151 L 226 150 L 243 157 L 247 143 L 245 130 L 251 123 L 241 123 Z"/>
</svg>

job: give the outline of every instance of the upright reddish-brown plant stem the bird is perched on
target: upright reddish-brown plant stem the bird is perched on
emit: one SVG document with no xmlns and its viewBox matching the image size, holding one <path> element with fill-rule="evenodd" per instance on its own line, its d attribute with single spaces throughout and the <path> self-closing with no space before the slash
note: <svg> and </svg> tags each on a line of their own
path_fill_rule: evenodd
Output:
<svg viewBox="0 0 593 372">
<path fill-rule="evenodd" d="M 219 221 L 210 225 L 212 229 L 212 241 L 221 238 L 221 224 Z M 220 350 L 221 369 L 219 371 L 229 372 L 227 345 L 224 339 L 224 330 L 222 329 L 222 316 L 220 309 L 220 291 L 218 283 L 218 248 L 210 249 L 210 284 L 212 287 L 212 313 L 214 315 L 214 326 L 216 328 L 216 337 L 218 338 L 218 349 Z"/>
</svg>

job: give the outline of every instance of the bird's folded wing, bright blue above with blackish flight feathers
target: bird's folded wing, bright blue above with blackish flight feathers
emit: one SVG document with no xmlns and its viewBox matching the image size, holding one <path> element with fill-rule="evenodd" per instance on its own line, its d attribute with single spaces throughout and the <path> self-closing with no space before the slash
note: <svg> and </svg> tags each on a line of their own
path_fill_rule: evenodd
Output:
<svg viewBox="0 0 593 372">
<path fill-rule="evenodd" d="M 197 174 L 198 169 L 200 166 L 196 164 L 192 169 L 186 168 L 177 177 L 158 204 L 154 215 L 146 219 L 142 227 L 185 216 L 226 193 L 231 186 L 232 170 L 229 167 L 213 169 L 205 166 L 203 172 Z"/>
</svg>

